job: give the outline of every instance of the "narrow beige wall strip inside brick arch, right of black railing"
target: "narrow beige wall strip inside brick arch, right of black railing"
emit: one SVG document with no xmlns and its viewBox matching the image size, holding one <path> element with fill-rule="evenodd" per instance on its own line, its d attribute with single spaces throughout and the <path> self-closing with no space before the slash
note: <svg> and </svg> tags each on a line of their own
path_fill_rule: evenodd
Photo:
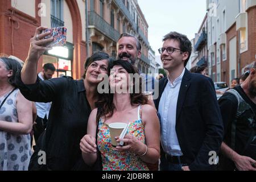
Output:
<svg viewBox="0 0 256 182">
<path fill-rule="evenodd" d="M 64 1 L 64 26 L 67 27 L 67 42 L 73 43 L 73 24 L 72 17 L 66 1 Z"/>
</svg>

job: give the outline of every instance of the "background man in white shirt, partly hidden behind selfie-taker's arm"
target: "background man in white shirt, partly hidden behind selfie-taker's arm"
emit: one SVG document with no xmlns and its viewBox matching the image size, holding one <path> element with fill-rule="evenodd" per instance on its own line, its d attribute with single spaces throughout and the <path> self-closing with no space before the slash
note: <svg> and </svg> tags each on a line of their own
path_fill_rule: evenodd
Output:
<svg viewBox="0 0 256 182">
<path fill-rule="evenodd" d="M 52 63 L 46 63 L 43 66 L 42 72 L 38 73 L 38 76 L 41 80 L 49 80 L 54 75 L 56 68 Z M 35 102 L 37 109 L 37 117 L 35 125 L 33 126 L 35 142 L 38 140 L 40 135 L 46 129 L 47 119 L 49 115 L 49 110 L 51 109 L 51 102 Z"/>
</svg>

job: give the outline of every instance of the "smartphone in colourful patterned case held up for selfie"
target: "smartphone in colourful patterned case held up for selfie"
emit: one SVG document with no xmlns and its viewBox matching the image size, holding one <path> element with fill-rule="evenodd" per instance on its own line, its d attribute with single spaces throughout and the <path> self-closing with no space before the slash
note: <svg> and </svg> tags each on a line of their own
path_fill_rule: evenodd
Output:
<svg viewBox="0 0 256 182">
<path fill-rule="evenodd" d="M 66 27 L 54 27 L 47 28 L 42 31 L 42 33 L 51 32 L 50 35 L 46 36 L 44 39 L 53 37 L 53 42 L 46 44 L 46 47 L 56 47 L 65 46 L 67 42 L 67 28 Z"/>
</svg>

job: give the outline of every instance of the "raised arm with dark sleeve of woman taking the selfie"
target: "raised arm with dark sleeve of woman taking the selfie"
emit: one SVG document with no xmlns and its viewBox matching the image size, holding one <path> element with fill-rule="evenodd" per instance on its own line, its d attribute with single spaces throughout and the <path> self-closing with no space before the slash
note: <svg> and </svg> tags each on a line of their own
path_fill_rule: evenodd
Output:
<svg viewBox="0 0 256 182">
<path fill-rule="evenodd" d="M 16 74 L 15 83 L 20 92 L 27 100 L 34 102 L 51 102 L 59 92 L 65 90 L 67 78 L 56 78 L 51 80 L 40 81 L 36 71 L 38 60 L 44 51 L 51 48 L 44 47 L 44 44 L 52 42 L 52 38 L 42 39 L 50 33 L 40 34 L 47 27 L 38 27 L 33 38 L 30 39 L 30 50 L 26 62 L 21 71 Z"/>
</svg>

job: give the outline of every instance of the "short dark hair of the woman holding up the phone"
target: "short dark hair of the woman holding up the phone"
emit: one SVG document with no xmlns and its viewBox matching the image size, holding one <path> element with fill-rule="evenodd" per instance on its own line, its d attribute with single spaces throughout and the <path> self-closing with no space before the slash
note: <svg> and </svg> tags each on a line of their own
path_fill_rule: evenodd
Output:
<svg viewBox="0 0 256 182">
<path fill-rule="evenodd" d="M 101 60 L 108 60 L 108 61 L 111 61 L 108 53 L 106 52 L 102 52 L 102 51 L 97 51 L 97 52 L 94 52 L 92 54 L 92 56 L 88 57 L 86 60 L 85 60 L 85 63 L 84 63 L 84 75 L 82 75 L 82 78 L 85 78 L 85 75 L 86 75 L 86 71 L 89 67 L 90 64 L 92 64 L 94 61 L 101 61 Z"/>
</svg>

